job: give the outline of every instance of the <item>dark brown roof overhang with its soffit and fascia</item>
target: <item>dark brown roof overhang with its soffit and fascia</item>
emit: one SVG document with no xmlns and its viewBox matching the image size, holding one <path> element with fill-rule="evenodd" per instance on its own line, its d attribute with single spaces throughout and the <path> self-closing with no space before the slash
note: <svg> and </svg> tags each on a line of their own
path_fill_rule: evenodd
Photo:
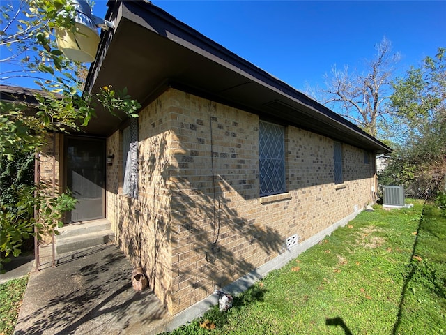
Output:
<svg viewBox="0 0 446 335">
<path fill-rule="evenodd" d="M 102 33 L 87 77 L 87 91 L 109 84 L 114 89 L 128 87 L 132 98 L 145 105 L 167 87 L 174 87 L 355 147 L 378 153 L 392 151 L 328 107 L 161 8 L 146 1 L 111 0 L 107 6 L 105 19 L 113 20 L 116 28 Z M 116 119 L 97 113 L 89 131 L 110 135 L 118 126 Z"/>
</svg>

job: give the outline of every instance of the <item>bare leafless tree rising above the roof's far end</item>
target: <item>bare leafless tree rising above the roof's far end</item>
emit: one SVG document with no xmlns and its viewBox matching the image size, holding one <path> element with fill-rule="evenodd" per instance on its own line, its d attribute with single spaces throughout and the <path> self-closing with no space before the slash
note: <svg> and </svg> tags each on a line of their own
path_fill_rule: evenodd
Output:
<svg viewBox="0 0 446 335">
<path fill-rule="evenodd" d="M 385 117 L 390 80 L 399 61 L 387 38 L 375 49 L 374 59 L 367 61 L 366 74 L 350 73 L 348 66 L 344 70 L 333 66 L 332 76 L 325 75 L 327 89 L 323 89 L 320 99 L 373 136 L 378 135 L 378 121 Z"/>
</svg>

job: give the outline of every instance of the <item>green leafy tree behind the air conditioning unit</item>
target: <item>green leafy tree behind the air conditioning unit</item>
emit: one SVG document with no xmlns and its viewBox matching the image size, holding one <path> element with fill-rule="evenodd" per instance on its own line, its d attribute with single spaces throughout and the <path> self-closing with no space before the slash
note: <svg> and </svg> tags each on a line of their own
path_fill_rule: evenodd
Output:
<svg viewBox="0 0 446 335">
<path fill-rule="evenodd" d="M 434 194 L 446 175 L 446 57 L 438 48 L 420 68 L 392 82 L 392 130 L 396 150 L 381 179 L 408 191 Z M 429 195 L 426 193 L 426 196 Z"/>
</svg>

